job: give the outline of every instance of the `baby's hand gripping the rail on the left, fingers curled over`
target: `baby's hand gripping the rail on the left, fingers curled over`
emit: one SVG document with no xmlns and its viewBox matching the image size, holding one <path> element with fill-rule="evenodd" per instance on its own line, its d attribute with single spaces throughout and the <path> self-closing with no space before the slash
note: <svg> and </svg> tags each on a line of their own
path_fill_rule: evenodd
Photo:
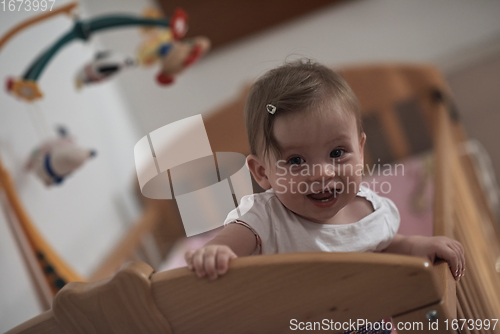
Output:
<svg viewBox="0 0 500 334">
<path fill-rule="evenodd" d="M 229 260 L 237 256 L 228 246 L 208 245 L 187 251 L 184 258 L 188 268 L 196 271 L 198 277 L 208 276 L 214 280 L 227 272 Z"/>
</svg>

